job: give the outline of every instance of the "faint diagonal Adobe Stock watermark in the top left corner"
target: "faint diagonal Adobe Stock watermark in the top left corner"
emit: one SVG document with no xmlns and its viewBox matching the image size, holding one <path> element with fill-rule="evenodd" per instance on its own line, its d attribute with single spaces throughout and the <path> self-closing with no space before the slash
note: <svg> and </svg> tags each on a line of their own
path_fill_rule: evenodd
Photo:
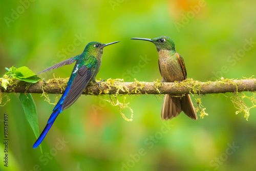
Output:
<svg viewBox="0 0 256 171">
<path fill-rule="evenodd" d="M 34 3 L 34 2 L 35 0 L 20 0 L 19 1 L 20 5 L 15 9 L 13 8 L 11 9 L 10 17 L 8 16 L 4 17 L 7 27 L 10 27 L 10 24 L 14 23 L 15 20 L 17 20 L 19 16 L 22 15 L 26 11 L 26 9 L 28 9 L 31 6 L 31 3 Z"/>
</svg>

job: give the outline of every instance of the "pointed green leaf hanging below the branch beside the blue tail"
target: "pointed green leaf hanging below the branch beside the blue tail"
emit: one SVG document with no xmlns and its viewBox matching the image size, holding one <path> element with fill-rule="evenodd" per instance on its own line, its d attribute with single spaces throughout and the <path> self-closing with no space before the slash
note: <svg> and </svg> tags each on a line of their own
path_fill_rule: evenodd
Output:
<svg viewBox="0 0 256 171">
<path fill-rule="evenodd" d="M 35 137 L 39 137 L 39 128 L 38 128 L 38 122 L 37 122 L 37 112 L 36 112 L 36 106 L 35 102 L 33 100 L 33 97 L 31 94 L 25 95 L 25 93 L 20 93 L 19 100 L 22 103 L 22 108 L 24 110 L 25 116 L 27 121 L 29 122 Z M 42 153 L 42 148 L 40 145 L 40 150 Z"/>
</svg>

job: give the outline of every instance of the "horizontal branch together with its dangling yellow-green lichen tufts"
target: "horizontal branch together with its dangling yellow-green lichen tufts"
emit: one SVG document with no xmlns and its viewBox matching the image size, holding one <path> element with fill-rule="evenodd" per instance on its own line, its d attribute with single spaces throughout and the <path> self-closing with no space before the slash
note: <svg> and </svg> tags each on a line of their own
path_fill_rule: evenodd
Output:
<svg viewBox="0 0 256 171">
<path fill-rule="evenodd" d="M 2 87 L 3 79 L 5 79 L 5 86 Z M 63 90 L 66 89 L 68 78 L 53 78 L 48 81 L 38 81 L 36 83 L 27 83 L 13 78 L 3 77 L 0 78 L 0 104 L 6 93 L 40 93 L 46 96 L 46 100 L 50 102 L 47 97 L 48 94 L 63 94 Z M 254 92 L 251 97 L 246 96 L 244 93 L 238 94 L 238 92 Z M 144 82 L 135 79 L 134 82 L 124 82 L 123 79 L 108 79 L 105 82 L 98 84 L 89 83 L 87 88 L 82 94 L 86 95 L 111 95 L 109 101 L 112 105 L 117 105 L 120 112 L 121 110 L 128 108 L 131 111 L 131 119 L 127 119 L 121 112 L 125 120 L 131 121 L 133 118 L 133 111 L 127 105 L 128 103 L 121 103 L 116 98 L 117 95 L 125 94 L 169 94 L 171 96 L 184 96 L 185 94 L 217 94 L 217 93 L 234 93 L 232 102 L 238 109 L 236 114 L 244 112 L 245 118 L 249 117 L 249 110 L 256 108 L 256 79 L 224 79 L 221 78 L 216 81 L 200 82 L 193 79 L 186 79 L 181 82 L 161 82 L 156 80 L 154 82 Z M 3 94 L 4 93 L 4 94 Z M 56 98 L 57 99 L 57 98 Z M 56 100 L 55 99 L 55 100 Z M 244 99 L 249 99 L 252 102 L 251 106 L 246 105 Z M 10 99 L 7 96 L 7 101 Z M 125 98 L 124 98 L 125 100 Z M 201 98 L 196 98 L 196 110 L 200 111 L 200 116 L 203 118 L 208 114 L 205 113 L 205 108 L 201 104 Z"/>
</svg>

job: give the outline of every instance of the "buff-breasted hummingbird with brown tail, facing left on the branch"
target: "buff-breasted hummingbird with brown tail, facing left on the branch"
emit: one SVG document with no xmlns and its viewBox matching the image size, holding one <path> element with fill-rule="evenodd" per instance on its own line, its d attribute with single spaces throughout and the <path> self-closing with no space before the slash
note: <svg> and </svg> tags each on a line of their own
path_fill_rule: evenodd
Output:
<svg viewBox="0 0 256 171">
<path fill-rule="evenodd" d="M 156 45 L 159 54 L 159 70 L 162 82 L 182 81 L 187 78 L 186 67 L 183 58 L 175 50 L 174 40 L 167 36 L 157 38 L 131 38 L 151 41 Z M 197 120 L 197 112 L 189 94 L 183 97 L 164 96 L 161 118 L 168 120 L 177 117 L 183 111 L 191 119 Z"/>
</svg>

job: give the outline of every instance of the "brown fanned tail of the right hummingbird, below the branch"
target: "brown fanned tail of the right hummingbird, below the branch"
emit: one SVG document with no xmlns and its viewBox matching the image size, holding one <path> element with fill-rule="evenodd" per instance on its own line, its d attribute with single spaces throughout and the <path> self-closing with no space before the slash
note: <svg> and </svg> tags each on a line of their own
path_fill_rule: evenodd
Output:
<svg viewBox="0 0 256 171">
<path fill-rule="evenodd" d="M 177 117 L 183 111 L 189 118 L 197 120 L 197 113 L 190 96 L 187 94 L 180 97 L 164 96 L 161 118 L 168 120 Z"/>
</svg>

